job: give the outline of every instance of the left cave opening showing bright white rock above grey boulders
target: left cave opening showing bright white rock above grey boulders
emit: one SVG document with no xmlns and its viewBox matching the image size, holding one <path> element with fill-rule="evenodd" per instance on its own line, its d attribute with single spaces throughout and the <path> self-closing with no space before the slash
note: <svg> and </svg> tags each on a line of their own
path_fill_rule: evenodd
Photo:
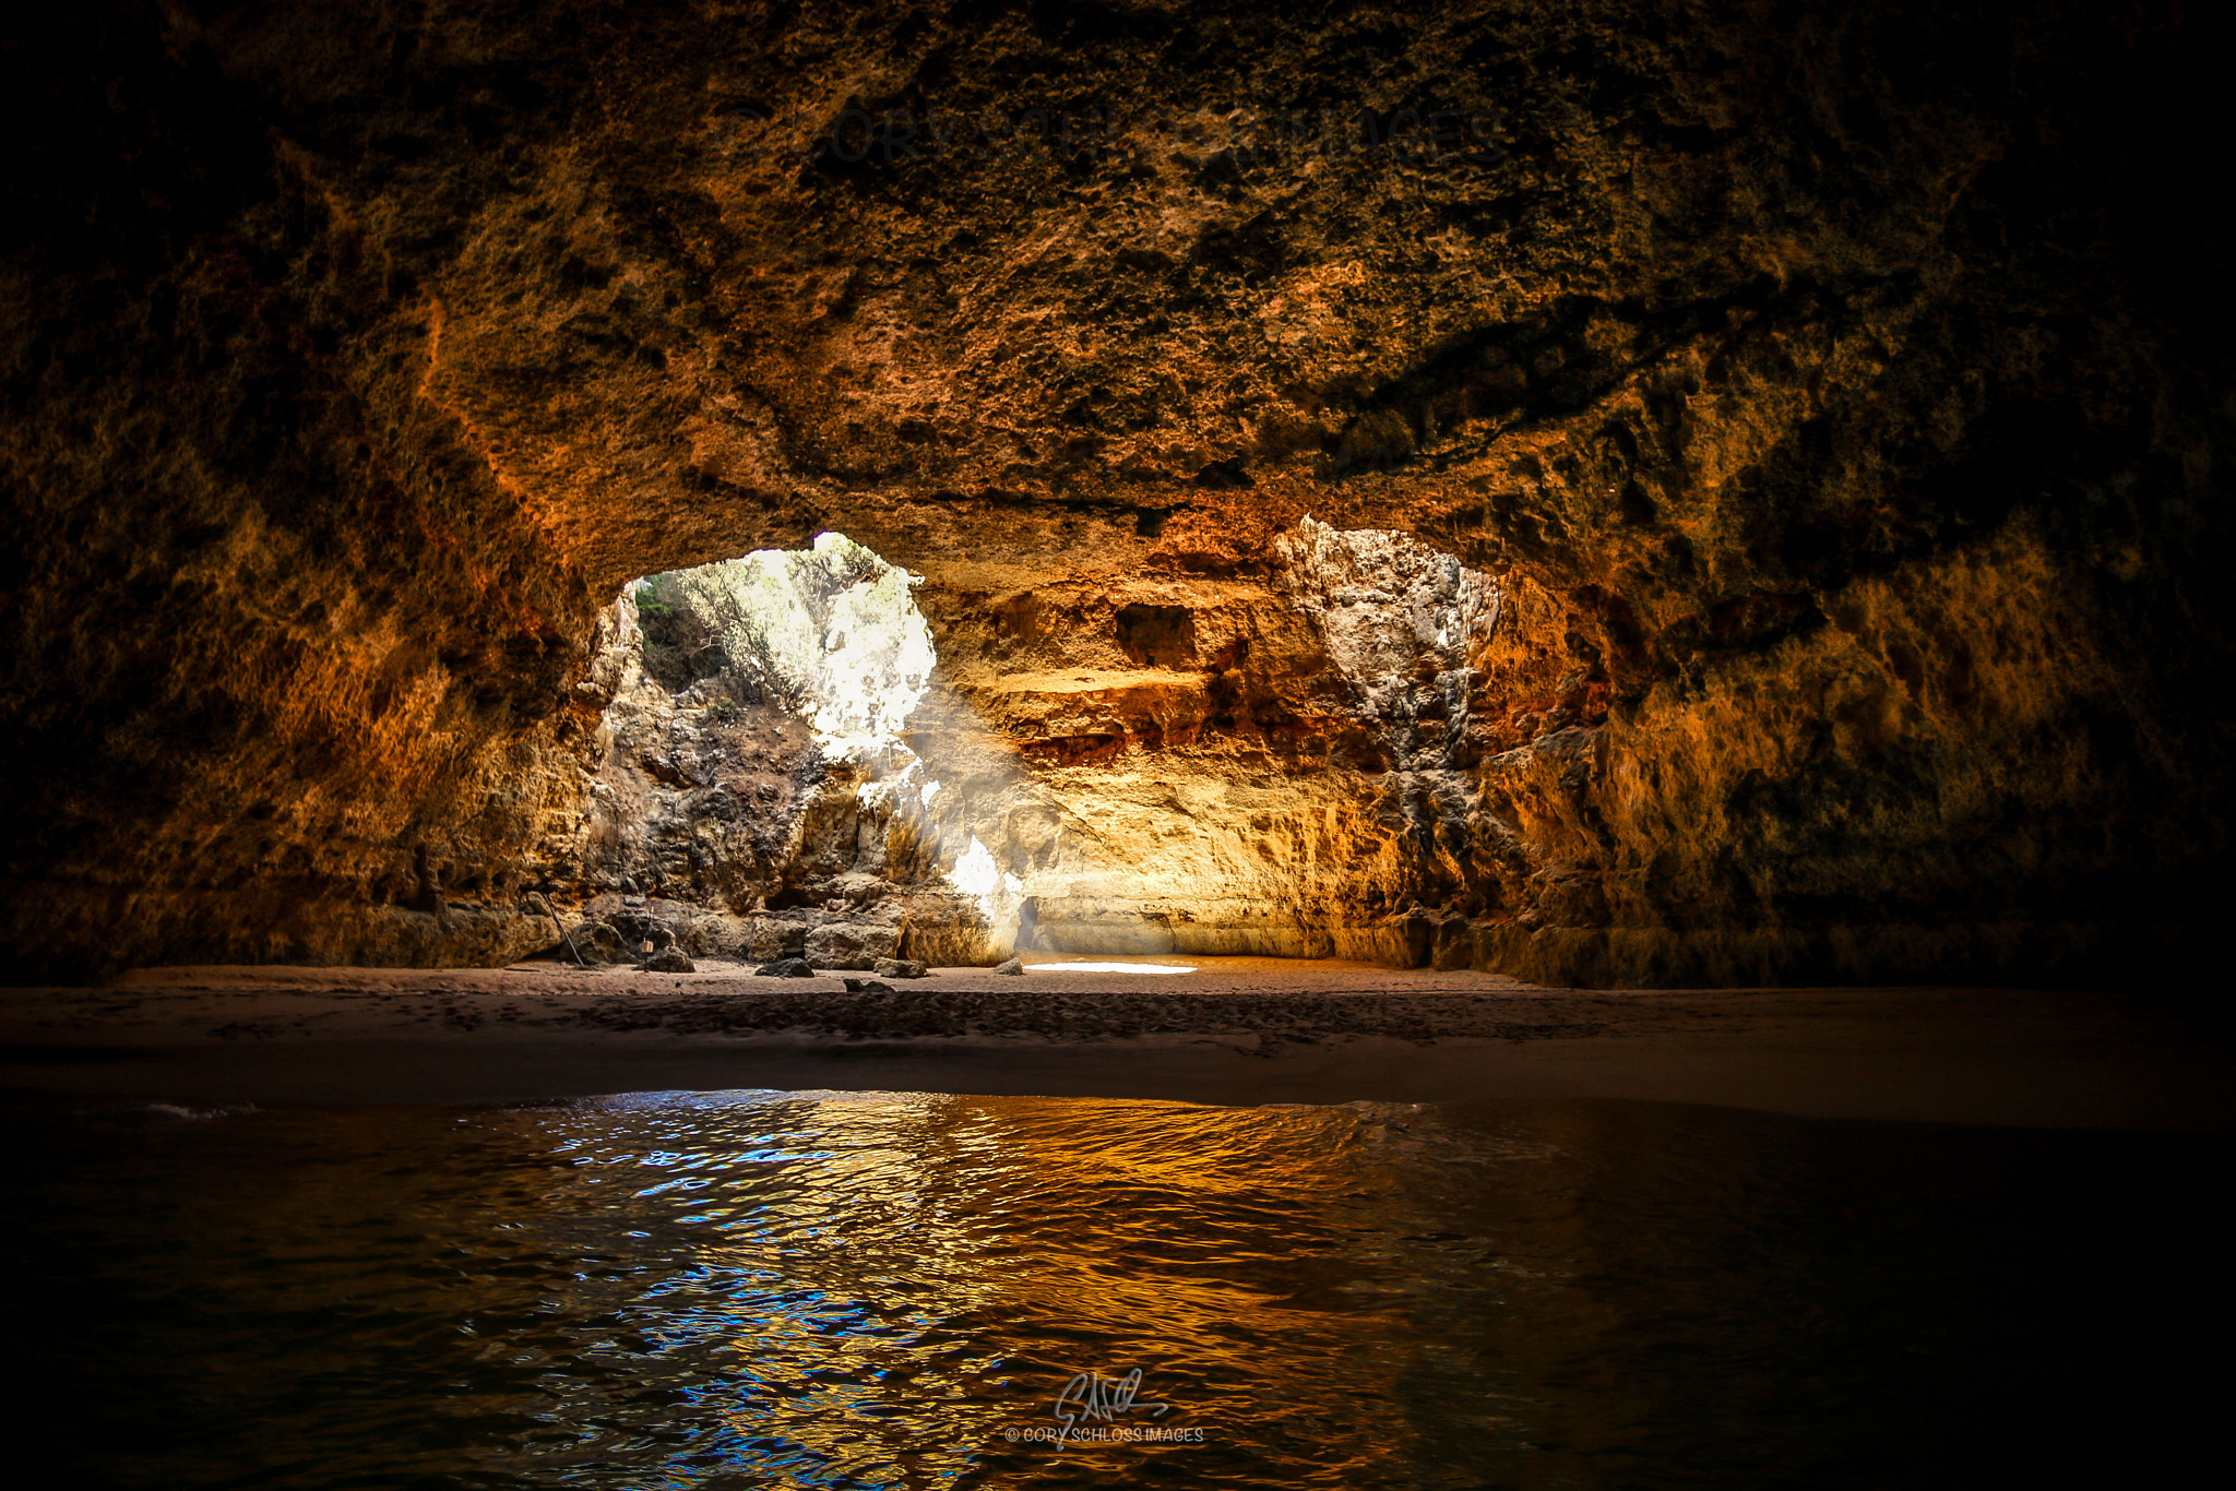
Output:
<svg viewBox="0 0 2236 1491">
<path fill-rule="evenodd" d="M 906 961 L 910 928 L 935 957 L 968 941 L 984 908 L 941 872 L 908 744 L 937 664 L 921 583 L 823 532 L 622 588 L 590 662 L 577 941 L 628 955 L 657 921 L 684 961 L 834 970 Z"/>
</svg>

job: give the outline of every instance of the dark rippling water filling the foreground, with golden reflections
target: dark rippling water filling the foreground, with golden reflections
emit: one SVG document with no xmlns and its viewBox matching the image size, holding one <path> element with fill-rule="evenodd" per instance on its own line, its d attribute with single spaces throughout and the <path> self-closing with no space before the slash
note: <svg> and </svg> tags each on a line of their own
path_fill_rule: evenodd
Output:
<svg viewBox="0 0 2236 1491">
<path fill-rule="evenodd" d="M 2220 1406 L 2220 1138 L 912 1093 L 7 1122 L 18 1484 L 2149 1484 Z M 1080 1424 L 1167 1442 L 1029 1437 L 1136 1368 Z"/>
</svg>

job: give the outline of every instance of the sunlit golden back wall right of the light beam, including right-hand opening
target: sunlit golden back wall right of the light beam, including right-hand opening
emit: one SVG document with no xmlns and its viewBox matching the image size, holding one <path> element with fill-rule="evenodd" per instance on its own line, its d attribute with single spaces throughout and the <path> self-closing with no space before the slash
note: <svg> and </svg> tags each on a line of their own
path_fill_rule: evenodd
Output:
<svg viewBox="0 0 2236 1491">
<path fill-rule="evenodd" d="M 1456 559 L 1306 519 L 1248 579 L 923 606 L 950 720 L 1031 771 L 970 825 L 1029 946 L 1400 957 L 1402 914 L 1478 879 L 1469 662 L 1498 601 Z"/>
</svg>

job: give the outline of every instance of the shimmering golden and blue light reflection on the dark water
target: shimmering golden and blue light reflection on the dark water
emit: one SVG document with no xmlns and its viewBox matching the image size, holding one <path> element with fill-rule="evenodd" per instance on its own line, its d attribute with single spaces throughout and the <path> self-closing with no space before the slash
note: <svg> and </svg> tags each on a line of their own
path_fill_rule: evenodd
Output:
<svg viewBox="0 0 2236 1491">
<path fill-rule="evenodd" d="M 615 1118 L 637 1122 L 617 1136 Z M 1205 1417 L 1248 1433 L 1375 1397 L 1404 1366 L 1386 1303 L 1339 1294 L 1371 1256 L 1344 1247 L 1364 1218 L 1330 1212 L 1386 1207 L 1395 1189 L 1362 1138 L 1386 1129 L 1357 1111 L 1239 1122 L 1158 1102 L 818 1095 L 508 1122 L 525 1142 L 557 1138 L 581 1200 L 639 1212 L 628 1232 L 669 1252 L 646 1330 L 700 1348 L 720 1386 L 693 1402 L 727 1426 L 718 1437 L 798 1466 L 953 1480 L 1038 1457 L 1053 1471 L 1053 1446 L 1015 1449 L 1004 1431 L 1058 1424 L 1078 1373 L 1143 1370 L 1143 1402 L 1167 1411 L 1136 1408 L 1131 1426 L 1210 1442 Z M 756 1133 L 724 1142 L 736 1127 Z M 528 1205 L 546 1223 L 572 1209 Z M 1353 1319 L 1330 1330 L 1333 1312 Z"/>
</svg>

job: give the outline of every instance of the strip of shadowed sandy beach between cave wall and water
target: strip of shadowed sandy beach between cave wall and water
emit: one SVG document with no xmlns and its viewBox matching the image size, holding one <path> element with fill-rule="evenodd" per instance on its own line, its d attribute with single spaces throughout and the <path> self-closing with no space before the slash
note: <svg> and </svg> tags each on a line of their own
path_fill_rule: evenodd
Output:
<svg viewBox="0 0 2236 1491">
<path fill-rule="evenodd" d="M 1563 990 L 1485 972 L 1107 959 L 1192 972 L 841 977 L 157 968 L 0 990 L 0 1091 L 179 1102 L 530 1102 L 789 1089 L 1261 1102 L 1635 1098 L 1807 1118 L 2236 1127 L 2229 1017 L 2082 990 Z"/>
</svg>

